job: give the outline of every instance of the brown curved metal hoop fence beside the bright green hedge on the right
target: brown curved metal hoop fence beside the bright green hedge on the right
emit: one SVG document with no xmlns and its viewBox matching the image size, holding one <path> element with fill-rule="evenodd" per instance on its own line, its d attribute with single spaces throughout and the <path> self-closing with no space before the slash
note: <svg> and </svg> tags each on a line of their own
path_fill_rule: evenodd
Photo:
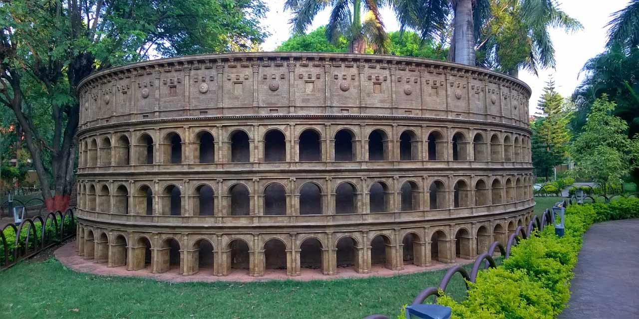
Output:
<svg viewBox="0 0 639 319">
<path fill-rule="evenodd" d="M 566 200 L 564 200 L 564 202 L 562 203 L 564 207 L 566 207 L 567 204 L 568 202 L 566 202 Z M 486 251 L 486 253 L 482 253 L 481 255 L 477 256 L 477 258 L 475 258 L 475 262 L 473 263 L 473 267 L 470 273 L 466 271 L 466 269 L 461 265 L 456 265 L 450 268 L 446 272 L 446 274 L 443 276 L 439 286 L 428 287 L 422 290 L 415 297 L 415 299 L 413 299 L 411 306 L 424 303 L 424 300 L 426 300 L 430 296 L 435 296 L 435 299 L 433 299 L 433 303 L 435 303 L 437 301 L 437 297 L 441 296 L 440 292 L 446 291 L 446 287 L 450 283 L 450 280 L 455 274 L 458 274 L 458 273 L 460 276 L 462 276 L 465 279 L 464 281 L 466 283 L 466 290 L 468 290 L 468 282 L 475 283 L 475 279 L 477 279 L 477 273 L 479 271 L 481 271 L 482 269 L 497 267 L 497 263 L 495 262 L 495 259 L 493 258 L 493 256 L 495 255 L 496 249 L 499 249 L 499 253 L 504 259 L 508 259 L 511 255 L 511 248 L 513 246 L 516 246 L 518 241 L 523 239 L 528 239 L 530 235 L 534 234 L 533 231 L 535 230 L 535 228 L 538 229 L 539 231 L 544 230 L 544 227 L 546 225 L 552 225 L 554 221 L 555 221 L 555 218 L 553 216 L 552 211 L 550 209 L 546 209 L 546 211 L 544 211 L 544 213 L 542 214 L 541 219 L 535 216 L 535 218 L 532 219 L 530 223 L 528 223 L 528 226 L 526 228 L 524 228 L 523 226 L 518 226 L 515 229 L 515 231 L 508 237 L 508 241 L 506 242 L 505 246 L 498 241 L 493 242 L 493 244 L 489 246 L 488 251 Z M 364 319 L 390 319 L 390 318 L 385 315 L 376 314 L 376 315 L 367 316 Z"/>
</svg>

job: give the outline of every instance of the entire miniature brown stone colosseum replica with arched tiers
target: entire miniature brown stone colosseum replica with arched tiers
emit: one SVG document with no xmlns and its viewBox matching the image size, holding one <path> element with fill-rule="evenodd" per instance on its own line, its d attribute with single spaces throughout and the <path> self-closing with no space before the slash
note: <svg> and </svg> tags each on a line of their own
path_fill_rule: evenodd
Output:
<svg viewBox="0 0 639 319">
<path fill-rule="evenodd" d="M 530 88 L 501 73 L 211 54 L 80 91 L 77 248 L 104 267 L 399 271 L 472 258 L 532 216 Z"/>
</svg>

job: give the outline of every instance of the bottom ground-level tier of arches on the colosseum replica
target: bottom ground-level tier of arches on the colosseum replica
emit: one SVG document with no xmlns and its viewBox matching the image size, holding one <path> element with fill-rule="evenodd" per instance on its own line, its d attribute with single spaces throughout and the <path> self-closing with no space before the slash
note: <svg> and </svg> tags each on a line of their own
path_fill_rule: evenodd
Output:
<svg viewBox="0 0 639 319">
<path fill-rule="evenodd" d="M 389 230 L 297 234 L 151 234 L 80 225 L 78 252 L 86 259 L 128 271 L 202 272 L 211 276 L 243 273 L 263 276 L 304 271 L 334 275 L 367 273 L 374 267 L 401 271 L 472 259 L 493 241 L 505 245 L 532 213 L 459 225 Z"/>
</svg>

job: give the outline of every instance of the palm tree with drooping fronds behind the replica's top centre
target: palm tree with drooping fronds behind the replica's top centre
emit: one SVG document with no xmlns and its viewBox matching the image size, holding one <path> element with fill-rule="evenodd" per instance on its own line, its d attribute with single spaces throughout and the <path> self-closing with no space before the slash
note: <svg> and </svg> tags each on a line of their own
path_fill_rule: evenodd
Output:
<svg viewBox="0 0 639 319">
<path fill-rule="evenodd" d="M 387 48 L 388 36 L 384 31 L 379 8 L 381 0 L 286 0 L 284 10 L 292 10 L 295 33 L 304 33 L 312 20 L 325 8 L 332 7 L 326 37 L 336 43 L 340 36 L 349 42 L 349 52 L 364 53 L 368 47 L 375 53 L 383 54 Z M 362 10 L 366 10 L 362 23 Z"/>
</svg>

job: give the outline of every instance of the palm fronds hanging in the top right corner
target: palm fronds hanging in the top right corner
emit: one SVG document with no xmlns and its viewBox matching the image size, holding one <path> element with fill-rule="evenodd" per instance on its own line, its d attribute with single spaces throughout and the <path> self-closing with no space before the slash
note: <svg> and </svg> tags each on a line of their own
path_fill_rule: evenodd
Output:
<svg viewBox="0 0 639 319">
<path fill-rule="evenodd" d="M 639 45 L 639 0 L 631 0 L 630 3 L 612 14 L 612 20 L 606 25 L 608 31 L 607 47 L 612 47 L 615 42 L 622 43 L 625 48 Z"/>
</svg>

